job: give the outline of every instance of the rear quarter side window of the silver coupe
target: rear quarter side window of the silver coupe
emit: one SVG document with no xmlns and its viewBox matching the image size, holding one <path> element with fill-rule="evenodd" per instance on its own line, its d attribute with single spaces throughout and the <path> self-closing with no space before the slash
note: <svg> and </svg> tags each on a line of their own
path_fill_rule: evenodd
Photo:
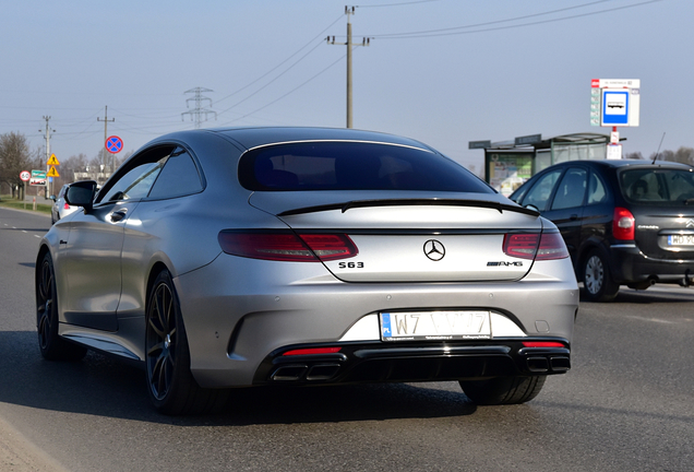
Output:
<svg viewBox="0 0 694 472">
<path fill-rule="evenodd" d="M 191 155 L 179 148 L 171 153 L 152 187 L 149 198 L 166 199 L 202 191 L 198 167 Z"/>
</svg>

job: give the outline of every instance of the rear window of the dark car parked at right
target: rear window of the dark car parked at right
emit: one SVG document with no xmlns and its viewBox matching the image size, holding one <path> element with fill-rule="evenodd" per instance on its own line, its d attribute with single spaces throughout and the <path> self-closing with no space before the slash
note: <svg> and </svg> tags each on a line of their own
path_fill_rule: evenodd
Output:
<svg viewBox="0 0 694 472">
<path fill-rule="evenodd" d="M 622 194 L 634 203 L 694 203 L 694 172 L 689 169 L 627 169 L 620 174 Z"/>
</svg>

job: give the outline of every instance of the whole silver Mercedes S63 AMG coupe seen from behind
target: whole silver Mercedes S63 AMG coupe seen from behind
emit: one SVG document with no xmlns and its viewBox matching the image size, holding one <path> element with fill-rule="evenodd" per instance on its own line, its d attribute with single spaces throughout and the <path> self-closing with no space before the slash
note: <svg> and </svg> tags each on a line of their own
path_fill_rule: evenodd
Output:
<svg viewBox="0 0 694 472">
<path fill-rule="evenodd" d="M 134 361 L 166 414 L 268 385 L 455 380 L 522 403 L 571 367 L 554 224 L 418 141 L 182 131 L 65 200 L 81 210 L 36 259 L 41 355 Z"/>
</svg>

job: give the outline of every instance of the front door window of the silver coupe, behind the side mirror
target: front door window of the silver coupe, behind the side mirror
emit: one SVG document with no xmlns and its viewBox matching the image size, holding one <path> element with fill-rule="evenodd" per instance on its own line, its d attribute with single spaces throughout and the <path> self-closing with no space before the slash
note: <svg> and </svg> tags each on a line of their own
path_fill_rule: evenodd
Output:
<svg viewBox="0 0 694 472">
<path fill-rule="evenodd" d="M 158 146 L 133 157 L 118 169 L 116 180 L 99 191 L 96 203 L 145 198 L 175 149 Z"/>
</svg>

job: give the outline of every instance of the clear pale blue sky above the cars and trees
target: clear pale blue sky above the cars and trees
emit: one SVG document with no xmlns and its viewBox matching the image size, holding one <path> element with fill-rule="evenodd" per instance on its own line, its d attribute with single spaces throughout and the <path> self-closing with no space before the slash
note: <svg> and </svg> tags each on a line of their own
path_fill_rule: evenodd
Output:
<svg viewBox="0 0 694 472">
<path fill-rule="evenodd" d="M 58 160 L 194 128 L 346 123 L 344 0 L 22 0 L 0 14 L 0 133 Z M 479 173 L 469 141 L 591 127 L 591 79 L 639 79 L 624 152 L 694 148 L 694 0 L 363 0 L 349 15 L 354 127 L 423 141 Z M 189 107 L 187 107 L 187 105 Z M 101 121 L 98 121 L 100 118 Z M 216 119 L 215 119 L 216 118 Z M 41 131 L 39 131 L 41 130 Z"/>
</svg>

